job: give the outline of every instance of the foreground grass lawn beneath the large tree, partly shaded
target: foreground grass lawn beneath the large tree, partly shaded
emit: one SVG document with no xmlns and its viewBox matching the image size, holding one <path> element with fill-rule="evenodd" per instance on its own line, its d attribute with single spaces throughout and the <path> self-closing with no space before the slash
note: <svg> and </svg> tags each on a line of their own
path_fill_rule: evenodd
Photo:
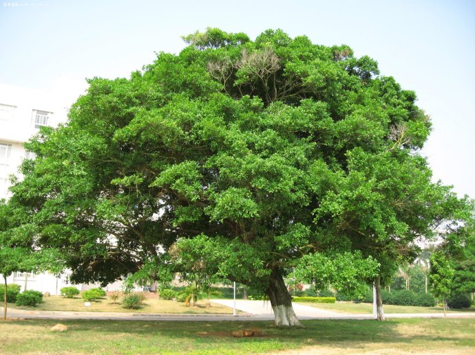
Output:
<svg viewBox="0 0 475 355">
<path fill-rule="evenodd" d="M 273 322 L 67 320 L 0 321 L 0 354 L 474 354 L 473 319 L 302 321 L 303 329 Z M 233 338 L 237 329 L 262 336 Z"/>
</svg>

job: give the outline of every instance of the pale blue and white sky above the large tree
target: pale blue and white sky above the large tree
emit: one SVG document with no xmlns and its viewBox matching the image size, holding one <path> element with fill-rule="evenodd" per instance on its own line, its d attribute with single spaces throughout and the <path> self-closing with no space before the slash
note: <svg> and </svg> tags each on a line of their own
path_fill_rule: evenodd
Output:
<svg viewBox="0 0 475 355">
<path fill-rule="evenodd" d="M 371 56 L 432 118 L 423 154 L 434 180 L 475 198 L 472 0 L 2 1 L 0 83 L 76 98 L 85 78 L 128 77 L 206 27 L 251 38 L 281 28 Z"/>
</svg>

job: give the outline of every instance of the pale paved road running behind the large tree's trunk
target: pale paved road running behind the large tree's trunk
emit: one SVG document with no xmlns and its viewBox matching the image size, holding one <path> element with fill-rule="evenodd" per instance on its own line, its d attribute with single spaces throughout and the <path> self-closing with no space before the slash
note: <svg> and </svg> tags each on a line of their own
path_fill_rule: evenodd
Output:
<svg viewBox="0 0 475 355">
<path fill-rule="evenodd" d="M 232 299 L 213 299 L 213 302 L 233 308 Z M 299 319 L 372 319 L 372 314 L 350 314 L 321 310 L 302 304 L 293 304 Z M 46 310 L 8 309 L 8 318 L 21 319 L 112 319 L 125 321 L 273 321 L 274 315 L 269 301 L 236 300 L 236 309 L 244 313 L 232 314 L 166 314 L 131 312 L 64 312 Z M 3 308 L 0 307 L 0 314 Z M 440 313 L 394 313 L 386 318 L 442 318 Z M 448 312 L 447 318 L 475 318 L 475 312 Z"/>
</svg>

